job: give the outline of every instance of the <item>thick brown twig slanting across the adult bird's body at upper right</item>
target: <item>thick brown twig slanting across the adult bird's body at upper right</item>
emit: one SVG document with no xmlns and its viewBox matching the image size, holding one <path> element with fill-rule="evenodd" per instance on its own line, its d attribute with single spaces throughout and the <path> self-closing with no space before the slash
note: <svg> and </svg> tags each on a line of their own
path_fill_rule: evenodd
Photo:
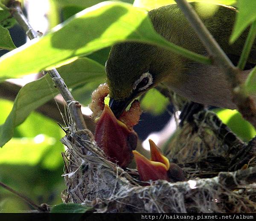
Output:
<svg viewBox="0 0 256 221">
<path fill-rule="evenodd" d="M 186 0 L 175 0 L 175 2 L 184 13 L 192 28 L 195 29 L 204 46 L 210 52 L 214 63 L 218 64 L 224 70 L 227 79 L 231 83 L 233 102 L 238 107 L 239 112 L 256 128 L 256 105 L 244 89 L 241 70 L 232 64 L 189 3 Z"/>
</svg>

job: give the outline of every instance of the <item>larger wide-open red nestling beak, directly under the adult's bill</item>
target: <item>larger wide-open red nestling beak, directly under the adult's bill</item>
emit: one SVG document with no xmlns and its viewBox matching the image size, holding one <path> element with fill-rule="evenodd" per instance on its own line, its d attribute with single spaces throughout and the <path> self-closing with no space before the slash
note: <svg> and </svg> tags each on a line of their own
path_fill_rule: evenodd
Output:
<svg viewBox="0 0 256 221">
<path fill-rule="evenodd" d="M 116 119 L 108 105 L 105 105 L 102 115 L 96 119 L 95 141 L 109 160 L 126 167 L 133 158 L 137 134 Z"/>
</svg>

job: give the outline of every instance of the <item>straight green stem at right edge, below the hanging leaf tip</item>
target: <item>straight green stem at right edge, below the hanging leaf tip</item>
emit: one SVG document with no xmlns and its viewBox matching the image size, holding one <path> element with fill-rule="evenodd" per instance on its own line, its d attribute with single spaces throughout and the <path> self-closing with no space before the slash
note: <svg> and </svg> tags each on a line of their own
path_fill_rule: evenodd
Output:
<svg viewBox="0 0 256 221">
<path fill-rule="evenodd" d="M 256 38 L 256 20 L 250 26 L 250 31 L 248 33 L 248 36 L 247 36 L 245 44 L 244 44 L 243 51 L 239 58 L 239 63 L 237 65 L 237 67 L 240 68 L 241 70 L 244 70 L 246 61 L 250 55 L 250 50 L 253 46 L 255 38 Z"/>
</svg>

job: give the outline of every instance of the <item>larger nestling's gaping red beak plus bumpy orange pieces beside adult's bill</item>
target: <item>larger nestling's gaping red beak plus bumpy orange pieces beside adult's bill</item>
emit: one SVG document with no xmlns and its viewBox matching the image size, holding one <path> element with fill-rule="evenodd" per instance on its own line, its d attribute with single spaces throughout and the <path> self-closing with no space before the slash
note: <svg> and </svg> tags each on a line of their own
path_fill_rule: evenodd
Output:
<svg viewBox="0 0 256 221">
<path fill-rule="evenodd" d="M 96 119 L 95 141 L 113 163 L 126 167 L 132 160 L 132 151 L 137 146 L 137 134 L 133 126 L 139 122 L 140 102 L 135 100 L 131 108 L 116 119 L 104 99 L 108 95 L 108 85 L 101 84 L 93 91 L 90 108 Z"/>
</svg>

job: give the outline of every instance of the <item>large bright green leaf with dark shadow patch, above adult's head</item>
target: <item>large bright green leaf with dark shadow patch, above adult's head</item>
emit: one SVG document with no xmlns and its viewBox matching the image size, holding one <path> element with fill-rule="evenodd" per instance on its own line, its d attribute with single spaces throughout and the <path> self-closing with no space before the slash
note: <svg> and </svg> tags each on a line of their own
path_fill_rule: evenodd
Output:
<svg viewBox="0 0 256 221">
<path fill-rule="evenodd" d="M 162 38 L 145 10 L 127 3 L 104 2 L 85 9 L 57 26 L 48 35 L 33 39 L 0 58 L 0 78 L 15 78 L 63 64 L 121 41 L 139 41 L 186 53 L 209 64 L 209 58 L 190 52 Z"/>
</svg>

